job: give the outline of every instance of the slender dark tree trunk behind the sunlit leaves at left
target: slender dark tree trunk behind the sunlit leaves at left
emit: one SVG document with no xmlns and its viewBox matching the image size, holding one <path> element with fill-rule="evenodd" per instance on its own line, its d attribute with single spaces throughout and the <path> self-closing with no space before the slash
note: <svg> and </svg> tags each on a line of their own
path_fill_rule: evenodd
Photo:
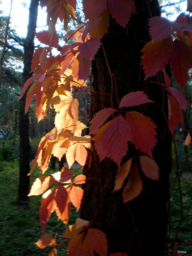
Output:
<svg viewBox="0 0 192 256">
<path fill-rule="evenodd" d="M 31 0 L 29 8 L 29 23 L 28 33 L 24 46 L 24 68 L 22 74 L 22 84 L 24 85 L 27 79 L 32 76 L 30 73 L 31 60 L 34 52 L 34 38 L 37 21 L 38 0 Z M 29 74 L 30 73 L 30 74 Z M 20 100 L 20 118 L 19 118 L 19 134 L 20 134 L 20 180 L 18 189 L 18 204 L 28 201 L 29 193 L 29 159 L 30 159 L 30 145 L 29 145 L 29 116 L 25 115 L 25 99 L 26 93 Z"/>
</svg>

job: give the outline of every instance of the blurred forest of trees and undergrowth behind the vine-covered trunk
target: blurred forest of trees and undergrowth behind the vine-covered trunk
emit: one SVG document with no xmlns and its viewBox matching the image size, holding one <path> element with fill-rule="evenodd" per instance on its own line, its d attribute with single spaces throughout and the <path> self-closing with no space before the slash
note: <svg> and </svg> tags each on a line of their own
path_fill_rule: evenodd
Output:
<svg viewBox="0 0 192 256">
<path fill-rule="evenodd" d="M 14 0 L 13 0 L 14 1 Z M 184 1 L 182 1 L 184 2 Z M 25 4 L 24 4 L 25 5 Z M 164 15 L 171 17 L 172 13 L 180 12 L 180 3 L 172 4 L 170 1 L 161 1 L 161 8 Z M 0 5 L 1 7 L 1 5 Z M 79 4 L 81 9 L 81 5 Z M 167 7 L 171 7 L 171 11 L 167 11 Z M 27 7 L 26 7 L 27 8 Z M 1 8 L 0 8 L 1 9 Z M 1 10 L 1 20 L 0 20 L 0 47 L 1 47 L 1 56 L 4 48 L 4 38 L 6 32 L 6 25 L 8 17 L 4 16 L 3 10 Z M 81 11 L 76 13 L 76 16 L 79 20 L 84 21 L 84 16 Z M 27 21 L 26 21 L 27 22 Z M 40 251 L 34 243 L 37 240 L 38 234 L 40 234 L 40 224 L 39 222 L 39 205 L 40 198 L 32 198 L 30 204 L 26 207 L 17 205 L 17 189 L 19 182 L 19 95 L 22 87 L 22 62 L 23 62 L 23 50 L 22 46 L 24 44 L 25 38 L 20 38 L 19 35 L 15 32 L 12 26 L 12 20 L 8 24 L 8 40 L 6 44 L 6 51 L 3 58 L 3 68 L 2 68 L 2 81 L 1 81 L 1 94 L 0 94 L 0 179 L 1 179 L 1 193 L 3 195 L 3 200 L 1 202 L 1 223 L 3 225 L 2 238 L 1 238 L 1 248 L 3 248 L 2 255 L 33 255 L 32 253 L 39 255 L 46 255 L 46 251 Z M 60 25 L 58 25 L 60 26 Z M 69 29 L 76 28 L 78 22 L 73 21 L 69 25 Z M 60 27 L 57 31 L 58 37 L 61 40 L 65 39 L 65 31 Z M 21 47 L 18 47 L 21 46 Z M 190 71 L 189 71 L 190 74 Z M 174 82 L 174 77 L 172 77 L 173 87 L 177 88 L 177 84 Z M 90 86 L 88 84 L 88 86 Z M 73 92 L 76 95 L 76 91 Z M 172 174 L 172 186 L 171 192 L 172 197 L 170 198 L 170 222 L 169 222 L 169 232 L 167 238 L 167 254 L 172 251 L 172 248 L 176 251 L 184 250 L 190 252 L 191 248 L 191 231 L 188 229 L 191 220 L 190 220 L 190 208 L 189 200 L 191 199 L 190 183 L 191 180 L 190 170 L 191 166 L 191 148 L 183 146 L 188 132 L 192 129 L 192 116 L 191 116 L 191 107 L 192 107 L 192 90 L 191 90 L 191 80 L 185 87 L 184 91 L 185 97 L 188 98 L 188 110 L 183 114 L 184 116 L 184 126 L 183 132 L 179 132 L 180 127 L 176 129 L 175 132 L 175 141 L 176 147 L 178 148 L 179 156 L 182 159 L 182 173 L 183 178 L 181 179 L 181 188 L 183 193 L 183 205 L 186 207 L 187 218 L 183 221 L 180 221 L 180 184 L 177 184 Z M 90 109 L 90 95 L 86 92 L 80 92 L 78 95 L 80 99 L 79 104 L 79 117 L 87 116 Z M 49 109 L 46 117 L 37 122 L 35 114 L 35 103 L 33 102 L 29 110 L 29 120 L 30 120 L 30 160 L 35 158 L 36 150 L 38 147 L 39 140 L 44 134 L 49 132 L 54 126 L 55 112 L 54 109 Z M 83 119 L 85 120 L 85 119 Z M 88 125 L 85 121 L 85 124 Z M 85 130 L 84 135 L 88 131 Z M 173 150 L 173 158 L 175 156 Z M 176 156 L 175 156 L 176 159 Z M 59 165 L 54 166 L 56 158 L 52 157 L 52 168 L 59 170 Z M 64 163 L 65 159 L 62 159 L 61 165 Z M 176 160 L 175 160 L 176 161 Z M 60 165 L 60 166 L 61 166 Z M 176 169 L 177 166 L 173 162 L 173 169 Z M 31 183 L 39 176 L 39 170 L 35 170 L 31 174 Z M 79 171 L 81 173 L 81 171 Z M 31 212 L 35 212 L 33 217 L 30 216 Z M 73 215 L 74 214 L 74 215 Z M 76 217 L 78 217 L 78 212 L 73 211 L 72 218 L 70 219 L 69 224 L 74 223 Z M 50 220 L 48 223 L 49 234 L 54 235 L 59 229 L 63 230 L 61 223 L 56 221 L 56 216 L 53 217 L 53 220 Z M 36 225 L 34 225 L 36 223 Z M 54 224 L 53 224 L 54 223 Z M 32 226 L 33 228 L 28 228 Z M 54 226 L 54 227 L 53 227 Z M 64 232 L 64 230 L 63 230 Z M 61 232 L 62 233 L 62 232 Z M 19 237 L 15 234 L 19 234 Z M 9 244 L 9 246 L 8 246 Z M 61 247 L 61 246 L 60 246 Z M 63 248 L 58 248 L 58 252 L 66 252 L 67 244 Z M 9 248 L 9 249 L 8 249 Z M 38 250 L 38 251 L 37 251 Z M 49 251 L 49 249 L 45 249 Z M 41 254 L 42 253 L 42 254 Z"/>
</svg>

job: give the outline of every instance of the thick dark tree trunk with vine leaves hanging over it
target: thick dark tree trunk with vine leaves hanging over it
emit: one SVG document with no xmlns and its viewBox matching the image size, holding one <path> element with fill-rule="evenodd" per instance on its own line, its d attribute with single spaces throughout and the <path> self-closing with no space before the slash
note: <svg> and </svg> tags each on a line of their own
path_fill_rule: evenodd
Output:
<svg viewBox="0 0 192 256">
<path fill-rule="evenodd" d="M 90 152 L 96 162 L 84 174 L 87 181 L 84 185 L 84 197 L 81 206 L 81 218 L 100 223 L 99 228 L 106 234 L 110 253 L 125 252 L 129 256 L 163 256 L 165 254 L 165 236 L 167 229 L 166 204 L 168 200 L 169 173 L 171 171 L 171 140 L 165 116 L 167 116 L 166 96 L 157 83 L 143 82 L 144 76 L 140 68 L 140 50 L 148 34 L 148 19 L 160 15 L 158 2 L 135 1 L 137 14 L 132 15 L 129 26 L 120 27 L 113 19 L 110 20 L 108 34 L 102 39 L 108 63 L 116 76 L 119 99 L 132 91 L 145 91 L 155 103 L 150 104 L 148 111 L 143 106 L 131 108 L 150 116 L 158 126 L 157 140 L 159 144 L 153 150 L 153 156 L 160 167 L 160 181 L 150 180 L 142 172 L 143 190 L 137 198 L 124 203 L 122 189 L 113 192 L 117 165 L 105 158 L 100 162 L 94 148 Z M 102 48 L 95 55 L 92 64 L 93 88 L 96 92 L 111 94 L 111 78 Z M 150 81 L 156 81 L 156 78 Z M 117 108 L 116 92 L 113 92 L 114 107 Z M 111 107 L 106 94 L 95 93 L 94 113 L 102 108 Z M 165 111 L 165 112 L 164 112 Z M 146 131 L 146 136 L 148 133 Z M 127 156 L 122 163 L 131 157 L 138 156 L 138 151 L 129 144 Z M 89 158 L 88 158 L 89 159 Z M 101 187 L 100 187 L 101 185 Z"/>
</svg>

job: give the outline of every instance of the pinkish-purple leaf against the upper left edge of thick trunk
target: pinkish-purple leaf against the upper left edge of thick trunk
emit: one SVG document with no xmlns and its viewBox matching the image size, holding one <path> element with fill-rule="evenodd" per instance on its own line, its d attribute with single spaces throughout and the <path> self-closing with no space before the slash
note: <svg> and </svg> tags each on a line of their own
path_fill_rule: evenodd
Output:
<svg viewBox="0 0 192 256">
<path fill-rule="evenodd" d="M 94 60 L 94 56 L 100 47 L 100 40 L 98 38 L 92 38 L 88 41 L 81 43 L 78 47 L 78 51 L 87 58 Z"/>
</svg>

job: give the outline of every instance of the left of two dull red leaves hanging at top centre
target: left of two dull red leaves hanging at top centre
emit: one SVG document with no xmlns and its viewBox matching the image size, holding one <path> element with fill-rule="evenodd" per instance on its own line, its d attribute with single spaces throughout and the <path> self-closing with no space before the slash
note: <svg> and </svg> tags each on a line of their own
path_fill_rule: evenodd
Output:
<svg viewBox="0 0 192 256">
<path fill-rule="evenodd" d="M 83 0 L 85 19 L 89 20 L 99 15 L 106 8 L 107 0 Z"/>
</svg>

